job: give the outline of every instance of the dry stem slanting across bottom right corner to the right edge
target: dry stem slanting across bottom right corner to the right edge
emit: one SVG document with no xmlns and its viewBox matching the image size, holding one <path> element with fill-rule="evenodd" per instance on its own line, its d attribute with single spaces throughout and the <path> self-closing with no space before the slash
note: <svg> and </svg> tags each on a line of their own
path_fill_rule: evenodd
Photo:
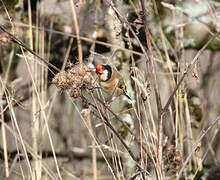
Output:
<svg viewBox="0 0 220 180">
<path fill-rule="evenodd" d="M 195 142 L 195 144 L 192 147 L 192 151 L 189 153 L 188 157 L 186 158 L 186 160 L 184 161 L 182 168 L 180 169 L 178 176 L 177 176 L 177 180 L 179 180 L 181 178 L 181 175 L 187 165 L 187 163 L 190 161 L 193 153 L 196 151 L 198 144 L 201 142 L 201 140 L 207 135 L 207 133 L 220 121 L 220 116 L 218 116 L 215 120 L 212 121 L 212 123 L 210 124 L 210 126 L 206 129 L 206 130 L 202 130 L 201 131 L 201 135 L 198 138 L 198 140 Z"/>
</svg>

